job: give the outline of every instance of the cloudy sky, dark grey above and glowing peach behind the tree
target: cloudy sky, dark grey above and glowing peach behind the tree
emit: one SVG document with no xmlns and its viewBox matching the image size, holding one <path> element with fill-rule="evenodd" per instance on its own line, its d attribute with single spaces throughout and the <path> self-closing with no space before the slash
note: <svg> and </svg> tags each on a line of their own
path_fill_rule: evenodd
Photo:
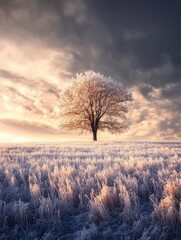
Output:
<svg viewBox="0 0 181 240">
<path fill-rule="evenodd" d="M 181 140 L 180 10 L 180 0 L 0 0 L 0 142 L 89 138 L 57 131 L 62 87 L 89 69 L 133 94 L 117 139 Z"/>
</svg>

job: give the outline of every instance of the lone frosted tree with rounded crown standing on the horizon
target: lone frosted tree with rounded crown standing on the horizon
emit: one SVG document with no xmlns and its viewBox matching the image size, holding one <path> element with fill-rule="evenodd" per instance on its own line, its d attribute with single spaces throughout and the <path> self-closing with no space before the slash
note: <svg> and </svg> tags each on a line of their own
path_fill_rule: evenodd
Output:
<svg viewBox="0 0 181 240">
<path fill-rule="evenodd" d="M 127 102 L 131 94 L 121 82 L 101 73 L 77 74 L 62 93 L 62 128 L 89 131 L 97 140 L 98 130 L 121 133 L 127 129 Z"/>
</svg>

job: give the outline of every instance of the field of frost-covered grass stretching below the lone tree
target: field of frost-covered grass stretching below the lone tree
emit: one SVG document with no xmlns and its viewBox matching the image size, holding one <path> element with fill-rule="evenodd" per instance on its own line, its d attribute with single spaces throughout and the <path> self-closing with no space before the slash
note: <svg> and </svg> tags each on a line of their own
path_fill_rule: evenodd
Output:
<svg viewBox="0 0 181 240">
<path fill-rule="evenodd" d="M 181 238 L 181 143 L 0 147 L 0 239 Z"/>
</svg>

